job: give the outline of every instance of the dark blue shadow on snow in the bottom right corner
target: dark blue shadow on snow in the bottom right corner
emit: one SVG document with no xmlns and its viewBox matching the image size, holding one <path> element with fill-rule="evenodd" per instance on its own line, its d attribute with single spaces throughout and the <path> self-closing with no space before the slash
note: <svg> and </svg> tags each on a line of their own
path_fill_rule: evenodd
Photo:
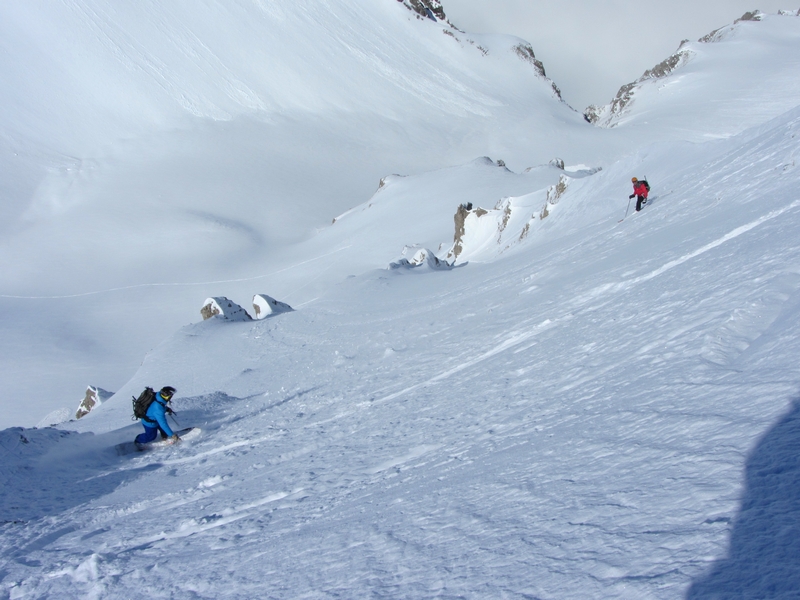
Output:
<svg viewBox="0 0 800 600">
<path fill-rule="evenodd" d="M 800 598 L 800 401 L 746 469 L 728 557 L 692 584 L 688 600 Z"/>
</svg>

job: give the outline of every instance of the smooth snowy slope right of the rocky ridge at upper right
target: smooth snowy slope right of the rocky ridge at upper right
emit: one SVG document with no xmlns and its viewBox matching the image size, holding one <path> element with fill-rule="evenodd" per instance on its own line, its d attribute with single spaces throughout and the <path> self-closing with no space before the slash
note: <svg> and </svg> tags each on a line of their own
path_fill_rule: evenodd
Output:
<svg viewBox="0 0 800 600">
<path fill-rule="evenodd" d="M 782 114 L 800 98 L 800 17 L 747 13 L 620 88 L 587 119 L 649 135 L 703 141 Z"/>
</svg>

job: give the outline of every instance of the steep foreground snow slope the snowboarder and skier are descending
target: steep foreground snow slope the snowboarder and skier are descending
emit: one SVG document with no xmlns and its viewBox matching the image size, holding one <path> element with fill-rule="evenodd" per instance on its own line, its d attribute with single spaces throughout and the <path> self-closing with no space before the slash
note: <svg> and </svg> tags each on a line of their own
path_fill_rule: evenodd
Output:
<svg viewBox="0 0 800 600">
<path fill-rule="evenodd" d="M 0 438 L 25 497 L 39 490 L 9 498 L 0 589 L 797 589 L 798 135 L 800 108 L 728 139 L 653 145 L 576 178 L 503 260 L 376 269 L 294 312 L 184 327 L 66 425 L 81 435 L 31 436 L 46 460 L 25 431 Z M 618 222 L 622 173 L 656 166 L 652 204 Z M 413 187 L 385 191 L 401 183 Z M 178 387 L 177 419 L 203 434 L 117 457 L 147 384 Z"/>
</svg>

